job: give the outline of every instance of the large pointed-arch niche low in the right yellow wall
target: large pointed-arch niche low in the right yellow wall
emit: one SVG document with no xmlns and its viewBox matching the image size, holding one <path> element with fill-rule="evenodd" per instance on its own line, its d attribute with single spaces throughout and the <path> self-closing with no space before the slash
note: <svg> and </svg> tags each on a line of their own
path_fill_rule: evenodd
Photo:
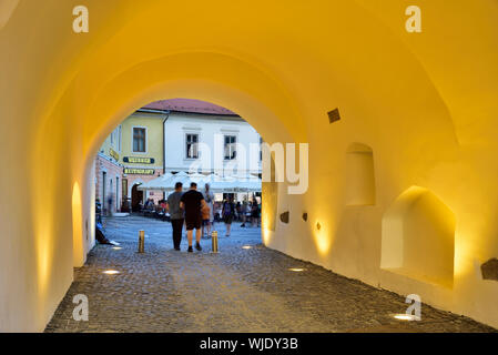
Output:
<svg viewBox="0 0 498 355">
<path fill-rule="evenodd" d="M 433 192 L 409 187 L 384 214 L 380 266 L 453 286 L 455 224 L 454 213 Z"/>
</svg>

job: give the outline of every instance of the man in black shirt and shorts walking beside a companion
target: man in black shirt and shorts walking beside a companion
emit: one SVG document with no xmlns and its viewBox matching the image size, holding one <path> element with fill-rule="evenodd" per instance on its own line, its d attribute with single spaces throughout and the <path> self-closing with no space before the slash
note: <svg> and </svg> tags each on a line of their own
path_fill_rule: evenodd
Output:
<svg viewBox="0 0 498 355">
<path fill-rule="evenodd" d="M 192 253 L 192 234 L 195 229 L 195 248 L 202 251 L 201 247 L 201 227 L 202 217 L 201 209 L 205 205 L 204 196 L 197 191 L 197 184 L 191 183 L 190 190 L 182 195 L 180 207 L 185 211 L 186 239 L 189 240 L 189 253 Z"/>
</svg>

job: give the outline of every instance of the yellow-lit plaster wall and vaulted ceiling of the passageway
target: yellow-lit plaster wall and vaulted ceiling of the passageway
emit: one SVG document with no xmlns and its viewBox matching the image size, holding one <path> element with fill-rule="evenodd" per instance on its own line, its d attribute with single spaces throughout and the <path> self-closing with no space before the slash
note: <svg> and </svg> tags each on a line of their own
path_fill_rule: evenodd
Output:
<svg viewBox="0 0 498 355">
<path fill-rule="evenodd" d="M 1 331 L 43 329 L 72 280 L 74 184 L 85 221 L 105 136 L 171 98 L 226 106 L 268 143 L 309 143 L 309 189 L 278 184 L 291 223 L 264 232 L 270 247 L 498 326 L 498 283 L 479 274 L 498 256 L 496 1 L 419 0 L 423 33 L 405 31 L 404 0 L 85 2 L 84 34 L 77 0 L 21 0 L 2 19 Z M 375 205 L 347 206 L 352 143 L 372 148 Z M 411 186 L 455 215 L 453 287 L 380 267 L 383 219 Z"/>
</svg>

